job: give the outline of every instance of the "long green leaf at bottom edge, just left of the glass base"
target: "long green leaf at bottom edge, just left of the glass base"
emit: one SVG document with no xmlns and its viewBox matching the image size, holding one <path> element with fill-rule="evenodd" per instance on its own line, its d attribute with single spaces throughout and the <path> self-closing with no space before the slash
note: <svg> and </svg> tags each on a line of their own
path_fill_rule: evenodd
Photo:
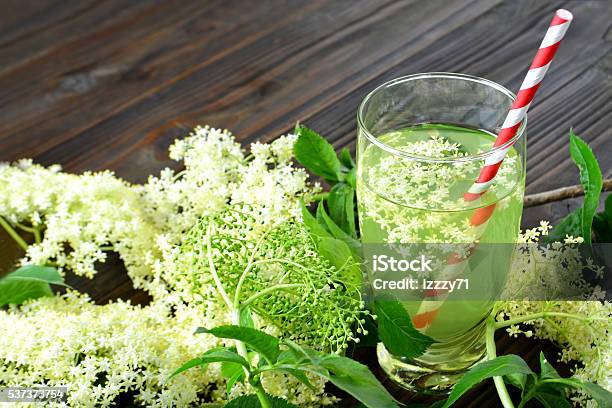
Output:
<svg viewBox="0 0 612 408">
<path fill-rule="evenodd" d="M 336 387 L 348 392 L 371 408 L 397 407 L 395 399 L 365 365 L 334 354 L 323 356 L 317 370 Z"/>
</svg>

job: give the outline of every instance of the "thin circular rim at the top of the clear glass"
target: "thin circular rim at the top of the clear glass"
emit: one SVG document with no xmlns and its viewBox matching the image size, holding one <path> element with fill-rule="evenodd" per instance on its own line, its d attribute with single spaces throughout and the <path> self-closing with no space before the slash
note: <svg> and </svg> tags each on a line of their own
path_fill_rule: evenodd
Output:
<svg viewBox="0 0 612 408">
<path fill-rule="evenodd" d="M 401 83 L 409 82 L 409 81 L 414 81 L 417 79 L 432 79 L 432 78 L 450 78 L 450 79 L 459 79 L 459 80 L 464 80 L 464 81 L 476 82 L 482 85 L 489 86 L 503 93 L 508 98 L 510 98 L 510 100 L 513 102 L 516 99 L 516 95 L 510 90 L 508 90 L 506 87 L 498 84 L 497 82 L 493 82 L 489 79 L 481 78 L 481 77 L 477 77 L 473 75 L 459 74 L 459 73 L 454 73 L 454 72 L 421 72 L 417 74 L 404 75 L 401 77 L 391 79 L 377 86 L 372 91 L 370 91 L 365 96 L 365 98 L 363 98 L 363 101 L 361 101 L 361 103 L 359 104 L 359 108 L 357 109 L 357 125 L 359 126 L 359 129 L 364 133 L 365 137 L 371 143 L 375 144 L 377 147 L 395 156 L 400 156 L 400 157 L 404 157 L 404 158 L 415 160 L 415 161 L 432 162 L 432 163 L 451 163 L 451 162 L 471 162 L 471 161 L 476 161 L 476 160 L 485 160 L 488 157 L 493 156 L 497 152 L 507 149 L 510 146 L 512 146 L 514 143 L 516 143 L 517 140 L 519 140 L 523 136 L 523 133 L 525 133 L 525 129 L 527 128 L 527 115 L 526 114 L 523 120 L 521 121 L 521 126 L 518 128 L 516 134 L 512 137 L 512 139 L 508 140 L 506 143 L 500 146 L 497 146 L 497 147 L 491 146 L 490 149 L 485 150 L 480 153 L 470 154 L 470 155 L 461 156 L 461 157 L 429 157 L 429 156 L 419 156 L 419 155 L 411 154 L 403 150 L 399 150 L 394 147 L 391 147 L 384 142 L 381 142 L 374 135 L 370 133 L 368 128 L 363 123 L 363 114 L 364 114 L 366 105 L 368 104 L 370 99 L 375 94 L 380 92 L 382 89 L 388 88 L 393 85 L 397 85 L 397 84 L 401 84 Z"/>
</svg>

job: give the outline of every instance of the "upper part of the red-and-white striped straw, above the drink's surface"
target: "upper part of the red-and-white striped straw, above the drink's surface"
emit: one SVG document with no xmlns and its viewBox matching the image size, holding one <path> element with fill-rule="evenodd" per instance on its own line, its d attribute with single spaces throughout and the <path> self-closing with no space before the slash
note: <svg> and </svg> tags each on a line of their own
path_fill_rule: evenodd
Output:
<svg viewBox="0 0 612 408">
<path fill-rule="evenodd" d="M 565 36 L 565 33 L 567 32 L 573 18 L 572 13 L 564 9 L 559 9 L 555 13 L 555 16 L 550 22 L 550 26 L 548 27 L 548 31 L 546 31 L 546 35 L 542 40 L 542 44 L 540 44 L 540 49 L 533 59 L 533 62 L 529 67 L 529 71 L 527 71 L 527 75 L 523 80 L 521 89 L 516 95 L 516 99 L 512 103 L 508 116 L 506 116 L 506 119 L 504 120 L 502 129 L 495 139 L 493 147 L 499 147 L 508 143 L 516 135 L 516 132 L 521 126 L 523 118 L 527 114 L 529 105 L 531 105 L 533 97 L 540 87 L 540 82 L 542 82 L 542 78 L 544 78 L 546 71 L 548 71 L 552 59 L 557 52 L 557 48 L 559 48 L 559 44 L 561 43 L 563 36 Z M 493 179 L 495 178 L 495 175 L 497 174 L 506 153 L 511 147 L 512 145 L 506 146 L 486 159 L 485 165 L 480 171 L 478 179 L 470 187 L 468 192 L 465 193 L 465 200 L 476 200 L 489 189 L 491 184 L 493 184 Z"/>
</svg>

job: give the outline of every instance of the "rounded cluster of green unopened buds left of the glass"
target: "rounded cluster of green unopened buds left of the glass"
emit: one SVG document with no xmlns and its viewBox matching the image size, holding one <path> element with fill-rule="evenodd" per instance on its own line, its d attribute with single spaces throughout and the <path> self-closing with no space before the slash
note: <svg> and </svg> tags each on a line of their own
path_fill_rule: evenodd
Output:
<svg viewBox="0 0 612 408">
<path fill-rule="evenodd" d="M 356 340 L 353 329 L 363 331 L 361 287 L 317 253 L 302 224 L 266 225 L 258 212 L 234 205 L 200 219 L 175 253 L 182 258 L 175 265 L 189 270 L 175 276 L 188 281 L 191 299 L 210 296 L 217 276 L 227 297 L 250 307 L 280 337 L 342 351 Z"/>
</svg>

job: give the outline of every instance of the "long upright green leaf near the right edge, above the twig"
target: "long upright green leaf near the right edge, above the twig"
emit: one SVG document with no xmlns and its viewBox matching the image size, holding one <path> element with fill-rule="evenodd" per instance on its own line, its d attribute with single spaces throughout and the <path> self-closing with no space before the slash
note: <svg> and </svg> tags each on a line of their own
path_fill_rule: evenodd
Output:
<svg viewBox="0 0 612 408">
<path fill-rule="evenodd" d="M 584 242 L 591 243 L 591 225 L 599 205 L 603 180 L 597 158 L 591 148 L 570 130 L 570 155 L 580 170 L 580 183 L 584 187 L 580 226 Z"/>
</svg>

